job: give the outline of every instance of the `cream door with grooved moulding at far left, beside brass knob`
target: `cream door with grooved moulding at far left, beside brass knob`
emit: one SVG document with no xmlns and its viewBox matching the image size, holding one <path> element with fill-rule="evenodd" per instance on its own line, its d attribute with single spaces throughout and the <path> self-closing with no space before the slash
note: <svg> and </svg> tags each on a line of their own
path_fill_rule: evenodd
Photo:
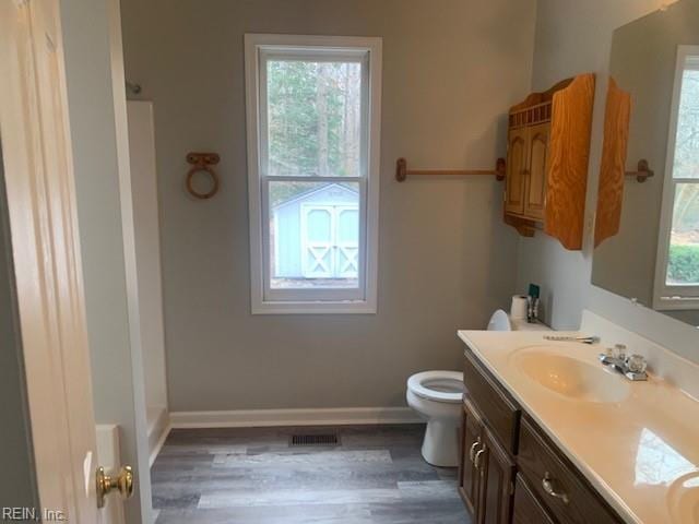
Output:
<svg viewBox="0 0 699 524">
<path fill-rule="evenodd" d="M 96 430 L 59 2 L 0 2 L 0 134 L 40 504 L 97 509 Z M 56 513 L 60 512 L 60 514 Z"/>
</svg>

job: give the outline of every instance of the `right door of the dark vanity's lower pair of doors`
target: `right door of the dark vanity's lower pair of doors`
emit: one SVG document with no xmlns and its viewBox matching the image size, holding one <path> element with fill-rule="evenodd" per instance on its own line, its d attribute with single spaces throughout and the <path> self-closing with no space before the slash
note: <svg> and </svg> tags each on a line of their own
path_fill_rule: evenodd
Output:
<svg viewBox="0 0 699 524">
<path fill-rule="evenodd" d="M 514 495 L 514 463 L 490 431 L 484 431 L 484 454 L 476 464 L 481 474 L 478 524 L 509 524 Z"/>
</svg>

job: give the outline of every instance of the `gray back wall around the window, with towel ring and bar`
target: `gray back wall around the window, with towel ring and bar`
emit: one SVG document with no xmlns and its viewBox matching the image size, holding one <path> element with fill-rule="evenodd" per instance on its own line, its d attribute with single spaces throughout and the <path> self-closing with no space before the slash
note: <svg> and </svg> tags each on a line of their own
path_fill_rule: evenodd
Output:
<svg viewBox="0 0 699 524">
<path fill-rule="evenodd" d="M 535 1 L 122 0 L 127 78 L 155 106 L 173 410 L 398 406 L 459 369 L 460 327 L 514 290 L 517 236 L 491 178 L 393 180 L 394 162 L 490 167 L 531 84 Z M 250 314 L 245 33 L 383 37 L 379 312 Z M 182 190 L 190 151 L 222 190 Z"/>
</svg>

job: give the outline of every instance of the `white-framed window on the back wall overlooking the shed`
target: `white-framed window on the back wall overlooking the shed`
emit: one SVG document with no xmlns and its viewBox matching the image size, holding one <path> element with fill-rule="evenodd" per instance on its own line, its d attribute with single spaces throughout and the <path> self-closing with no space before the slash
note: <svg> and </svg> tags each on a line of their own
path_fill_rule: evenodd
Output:
<svg viewBox="0 0 699 524">
<path fill-rule="evenodd" d="M 253 313 L 376 312 L 381 39 L 246 35 Z"/>
</svg>

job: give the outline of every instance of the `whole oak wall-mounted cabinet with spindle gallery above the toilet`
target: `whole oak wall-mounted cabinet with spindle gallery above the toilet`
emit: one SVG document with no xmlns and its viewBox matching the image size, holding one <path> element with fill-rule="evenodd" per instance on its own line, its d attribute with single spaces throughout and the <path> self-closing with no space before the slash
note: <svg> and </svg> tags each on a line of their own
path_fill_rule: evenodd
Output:
<svg viewBox="0 0 699 524">
<path fill-rule="evenodd" d="M 594 74 L 533 93 L 509 114 L 505 222 L 582 249 Z"/>
</svg>

